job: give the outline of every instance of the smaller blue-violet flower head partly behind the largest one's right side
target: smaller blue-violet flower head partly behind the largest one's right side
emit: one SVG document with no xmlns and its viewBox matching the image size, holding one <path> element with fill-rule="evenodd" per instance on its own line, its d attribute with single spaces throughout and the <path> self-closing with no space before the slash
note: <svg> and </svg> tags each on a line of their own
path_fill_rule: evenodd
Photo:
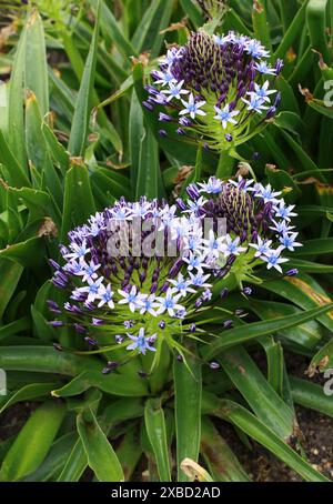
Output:
<svg viewBox="0 0 333 504">
<path fill-rule="evenodd" d="M 218 278 L 234 274 L 240 283 L 254 281 L 253 272 L 259 264 L 282 272 L 281 264 L 287 261 L 282 258 L 283 250 L 293 252 L 301 246 L 297 233 L 291 232 L 294 206 L 285 206 L 279 198 L 281 192 L 270 184 L 253 185 L 253 180 L 242 177 L 218 183 L 211 178 L 188 192 L 196 202 L 204 196 L 204 203 L 195 208 L 195 215 L 213 221 L 201 254 Z M 188 204 L 193 208 L 191 202 Z M 222 222 L 225 232 L 219 236 L 215 233 Z"/>
</svg>

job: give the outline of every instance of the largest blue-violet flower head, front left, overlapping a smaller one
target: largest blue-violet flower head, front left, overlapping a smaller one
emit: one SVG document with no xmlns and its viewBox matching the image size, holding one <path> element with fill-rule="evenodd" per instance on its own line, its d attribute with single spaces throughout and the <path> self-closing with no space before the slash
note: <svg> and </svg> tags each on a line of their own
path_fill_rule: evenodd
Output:
<svg viewBox="0 0 333 504">
<path fill-rule="evenodd" d="M 194 210 L 194 203 L 188 215 L 167 202 L 121 199 L 71 231 L 68 246 L 60 248 L 64 264 L 52 263 L 53 283 L 65 292 L 63 306 L 49 300 L 59 316 L 52 324 L 97 342 L 99 334 L 117 337 L 124 354 L 155 351 L 155 335 L 172 345 L 210 278 L 200 276 L 205 255 Z"/>
</svg>

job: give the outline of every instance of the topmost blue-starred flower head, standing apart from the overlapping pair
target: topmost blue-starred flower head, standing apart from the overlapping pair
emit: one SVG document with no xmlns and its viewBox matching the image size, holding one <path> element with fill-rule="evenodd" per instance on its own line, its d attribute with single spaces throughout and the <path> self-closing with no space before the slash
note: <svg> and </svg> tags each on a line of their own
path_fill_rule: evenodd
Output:
<svg viewBox="0 0 333 504">
<path fill-rule="evenodd" d="M 150 97 L 144 103 L 167 105 L 181 135 L 213 150 L 236 149 L 276 113 L 280 93 L 272 81 L 282 64 L 279 60 L 270 67 L 269 56 L 261 42 L 233 31 L 213 37 L 193 32 L 152 72 L 154 82 L 145 88 Z"/>
</svg>

